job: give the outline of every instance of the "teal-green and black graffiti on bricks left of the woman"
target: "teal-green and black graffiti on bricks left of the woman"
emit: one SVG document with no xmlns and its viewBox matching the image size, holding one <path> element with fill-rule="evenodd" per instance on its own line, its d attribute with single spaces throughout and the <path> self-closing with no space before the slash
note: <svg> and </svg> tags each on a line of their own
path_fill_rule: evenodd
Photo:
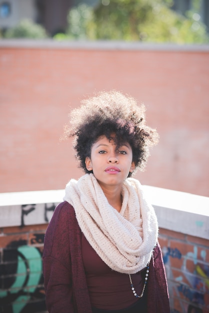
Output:
<svg viewBox="0 0 209 313">
<path fill-rule="evenodd" d="M 33 243 L 44 234 L 34 235 Z M 28 313 L 45 310 L 41 251 L 25 240 L 2 249 L 0 265 L 0 312 Z"/>
</svg>

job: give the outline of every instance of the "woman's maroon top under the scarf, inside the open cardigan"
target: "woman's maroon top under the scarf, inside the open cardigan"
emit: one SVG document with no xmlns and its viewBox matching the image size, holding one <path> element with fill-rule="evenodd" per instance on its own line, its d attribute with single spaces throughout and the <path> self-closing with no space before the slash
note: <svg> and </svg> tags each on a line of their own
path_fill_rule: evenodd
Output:
<svg viewBox="0 0 209 313">
<path fill-rule="evenodd" d="M 91 305 L 97 308 L 121 309 L 135 303 L 127 274 L 112 270 L 91 247 L 83 233 L 81 234 L 82 261 Z M 144 273 L 145 275 L 145 273 Z M 141 272 L 131 274 L 137 294 L 141 294 L 143 284 Z"/>
</svg>

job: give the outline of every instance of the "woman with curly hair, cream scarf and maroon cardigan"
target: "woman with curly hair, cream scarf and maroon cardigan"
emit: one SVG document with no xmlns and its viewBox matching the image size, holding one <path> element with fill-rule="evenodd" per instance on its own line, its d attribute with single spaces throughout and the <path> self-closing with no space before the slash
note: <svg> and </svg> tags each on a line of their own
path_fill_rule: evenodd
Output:
<svg viewBox="0 0 209 313">
<path fill-rule="evenodd" d="M 67 183 L 46 230 L 50 313 L 169 313 L 156 215 L 131 177 L 158 140 L 144 111 L 114 90 L 71 111 L 65 135 L 85 174 Z"/>
</svg>

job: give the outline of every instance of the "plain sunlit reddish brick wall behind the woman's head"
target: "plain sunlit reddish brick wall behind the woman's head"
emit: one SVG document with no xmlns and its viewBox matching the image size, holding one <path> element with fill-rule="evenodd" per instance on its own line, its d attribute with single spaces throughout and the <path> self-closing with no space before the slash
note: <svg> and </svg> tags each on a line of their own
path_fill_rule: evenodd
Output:
<svg viewBox="0 0 209 313">
<path fill-rule="evenodd" d="M 208 196 L 209 51 L 0 48 L 0 192 L 62 189 L 80 176 L 59 142 L 69 106 L 119 89 L 160 134 L 143 184 Z"/>
</svg>

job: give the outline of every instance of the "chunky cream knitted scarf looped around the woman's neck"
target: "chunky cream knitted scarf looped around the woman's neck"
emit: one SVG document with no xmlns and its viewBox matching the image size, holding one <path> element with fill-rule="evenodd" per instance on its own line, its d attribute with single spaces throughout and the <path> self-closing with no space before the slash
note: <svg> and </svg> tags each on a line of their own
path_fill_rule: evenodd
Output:
<svg viewBox="0 0 209 313">
<path fill-rule="evenodd" d="M 132 274 L 150 260 L 158 225 L 138 180 L 126 178 L 121 194 L 118 212 L 94 175 L 85 174 L 67 183 L 63 200 L 74 207 L 81 231 L 100 258 L 113 270 Z"/>
</svg>

